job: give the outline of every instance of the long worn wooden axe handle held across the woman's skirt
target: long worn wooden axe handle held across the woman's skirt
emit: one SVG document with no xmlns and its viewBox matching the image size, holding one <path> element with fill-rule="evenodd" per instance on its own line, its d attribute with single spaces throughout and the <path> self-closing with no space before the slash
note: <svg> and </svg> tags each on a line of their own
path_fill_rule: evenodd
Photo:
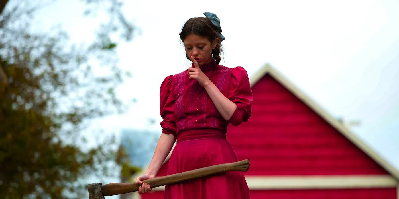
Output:
<svg viewBox="0 0 399 199">
<path fill-rule="evenodd" d="M 242 171 L 246 172 L 249 168 L 249 160 L 241 160 L 238 162 L 231 162 L 225 164 L 217 164 L 213 166 L 208 166 L 204 168 L 199 168 L 196 170 L 186 171 L 178 174 L 172 174 L 169 176 L 162 176 L 152 179 L 143 180 L 143 183 L 148 183 L 151 189 L 155 187 L 161 187 L 164 185 L 179 183 L 182 181 L 201 178 L 205 176 L 211 176 L 214 174 L 219 174 L 223 172 L 232 172 L 232 171 Z M 124 193 L 130 193 L 134 191 L 138 191 L 138 187 L 141 185 L 136 184 L 135 182 L 131 183 L 109 183 L 102 186 L 102 191 L 104 196 L 110 195 L 119 195 Z"/>
</svg>

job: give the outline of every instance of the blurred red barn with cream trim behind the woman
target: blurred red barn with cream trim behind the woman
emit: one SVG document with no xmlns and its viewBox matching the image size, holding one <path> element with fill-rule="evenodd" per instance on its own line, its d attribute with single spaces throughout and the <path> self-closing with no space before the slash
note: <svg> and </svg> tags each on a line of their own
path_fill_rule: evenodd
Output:
<svg viewBox="0 0 399 199">
<path fill-rule="evenodd" d="M 399 172 L 271 66 L 251 85 L 252 117 L 227 133 L 251 162 L 251 199 L 399 199 Z M 162 199 L 163 188 L 141 198 Z"/>
</svg>

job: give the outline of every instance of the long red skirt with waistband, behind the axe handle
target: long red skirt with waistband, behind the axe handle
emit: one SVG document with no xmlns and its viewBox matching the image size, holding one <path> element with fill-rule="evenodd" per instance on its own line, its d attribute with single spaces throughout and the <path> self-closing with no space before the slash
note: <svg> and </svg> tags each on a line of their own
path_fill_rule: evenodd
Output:
<svg viewBox="0 0 399 199">
<path fill-rule="evenodd" d="M 168 175 L 236 162 L 237 157 L 225 133 L 220 131 L 190 131 L 178 135 L 170 156 Z M 166 185 L 165 199 L 249 199 L 249 189 L 243 172 L 225 172 Z"/>
</svg>

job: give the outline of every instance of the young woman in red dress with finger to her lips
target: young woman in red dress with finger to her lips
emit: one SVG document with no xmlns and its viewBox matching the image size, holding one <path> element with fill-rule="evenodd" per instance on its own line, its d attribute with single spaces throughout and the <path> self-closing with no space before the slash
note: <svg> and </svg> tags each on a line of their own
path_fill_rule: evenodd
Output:
<svg viewBox="0 0 399 199">
<path fill-rule="evenodd" d="M 186 57 L 193 63 L 168 76 L 160 88 L 162 134 L 151 163 L 136 183 L 155 178 L 174 142 L 168 175 L 238 161 L 226 140 L 227 125 L 239 125 L 251 116 L 252 90 L 243 67 L 219 64 L 219 18 L 191 18 L 180 33 Z M 244 133 L 244 132 L 243 132 Z M 144 183 L 138 193 L 151 190 Z M 226 172 L 165 187 L 165 199 L 249 199 L 243 172 Z"/>
</svg>

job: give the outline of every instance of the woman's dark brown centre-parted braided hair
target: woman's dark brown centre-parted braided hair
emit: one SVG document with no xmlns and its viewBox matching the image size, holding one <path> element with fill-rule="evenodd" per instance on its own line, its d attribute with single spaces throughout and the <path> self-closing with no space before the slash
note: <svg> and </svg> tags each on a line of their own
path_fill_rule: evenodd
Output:
<svg viewBox="0 0 399 199">
<path fill-rule="evenodd" d="M 218 38 L 216 47 L 212 50 L 212 57 L 215 59 L 216 64 L 219 64 L 221 60 L 220 53 L 222 51 L 222 45 L 218 28 L 207 18 L 191 18 L 186 21 L 186 23 L 183 25 L 182 31 L 179 33 L 181 41 L 184 41 L 187 35 L 190 35 L 191 33 L 201 37 L 206 37 L 211 43 Z M 186 57 L 189 59 L 187 54 Z"/>
</svg>

